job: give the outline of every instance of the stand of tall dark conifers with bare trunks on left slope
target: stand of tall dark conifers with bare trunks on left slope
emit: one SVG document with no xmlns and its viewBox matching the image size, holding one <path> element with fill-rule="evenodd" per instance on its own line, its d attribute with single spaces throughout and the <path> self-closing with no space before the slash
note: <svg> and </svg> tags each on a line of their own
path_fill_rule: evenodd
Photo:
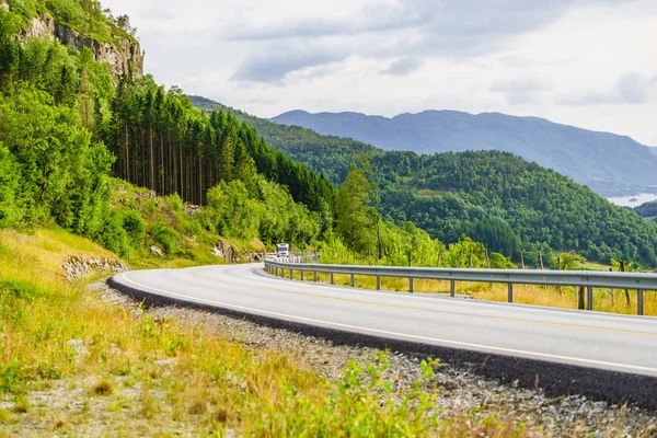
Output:
<svg viewBox="0 0 657 438">
<path fill-rule="evenodd" d="M 136 84 L 122 80 L 113 115 L 106 137 L 117 158 L 113 171 L 130 183 L 205 204 L 206 191 L 219 182 L 251 185 L 261 173 L 313 211 L 330 207 L 333 188 L 325 177 L 267 147 L 231 114 L 207 117 L 177 88 L 166 92 L 148 76 Z"/>
</svg>

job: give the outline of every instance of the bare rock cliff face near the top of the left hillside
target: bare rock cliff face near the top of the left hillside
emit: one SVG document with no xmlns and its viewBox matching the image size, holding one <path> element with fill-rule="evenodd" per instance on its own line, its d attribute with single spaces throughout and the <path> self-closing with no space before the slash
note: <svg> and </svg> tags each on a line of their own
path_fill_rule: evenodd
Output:
<svg viewBox="0 0 657 438">
<path fill-rule="evenodd" d="M 26 30 L 21 32 L 23 38 L 37 37 L 43 39 L 59 39 L 61 44 L 81 50 L 89 47 L 97 62 L 107 62 L 110 71 L 116 77 L 126 76 L 130 80 L 143 77 L 143 56 L 139 43 L 117 38 L 115 44 L 100 43 L 67 26 L 55 23 L 42 15 L 32 19 Z"/>
</svg>

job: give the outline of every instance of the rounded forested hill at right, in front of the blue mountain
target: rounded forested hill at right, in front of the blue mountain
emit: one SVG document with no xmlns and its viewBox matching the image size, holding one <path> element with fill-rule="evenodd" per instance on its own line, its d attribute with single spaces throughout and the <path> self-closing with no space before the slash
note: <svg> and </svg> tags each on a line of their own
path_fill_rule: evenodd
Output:
<svg viewBox="0 0 657 438">
<path fill-rule="evenodd" d="M 407 169 L 399 165 L 404 162 L 401 157 L 407 159 Z M 488 222 L 485 229 L 493 230 L 492 221 L 506 221 L 520 239 L 520 250 L 530 253 L 526 262 L 530 261 L 533 266 L 533 254 L 538 253 L 534 250 L 541 249 L 531 245 L 538 242 L 561 251 L 580 252 L 595 260 L 616 255 L 657 263 L 652 243 L 657 239 L 657 227 L 653 223 L 612 206 L 556 172 L 509 153 L 486 151 L 427 157 L 399 152 L 396 157 L 387 154 L 381 161 L 374 160 L 377 162 L 381 175 L 395 169 L 395 173 L 411 177 L 406 188 L 385 186 L 382 212 L 397 220 L 413 220 L 448 242 L 457 238 L 458 230 L 472 230 L 481 240 L 489 240 L 489 233 L 477 230 L 480 223 Z M 407 187 L 424 189 L 426 194 Z M 499 251 L 507 242 L 514 242 L 514 238 L 507 227 L 496 228 L 502 231 L 500 235 L 509 235 L 503 242 L 486 242 Z M 506 255 L 518 256 L 508 252 Z"/>
</svg>

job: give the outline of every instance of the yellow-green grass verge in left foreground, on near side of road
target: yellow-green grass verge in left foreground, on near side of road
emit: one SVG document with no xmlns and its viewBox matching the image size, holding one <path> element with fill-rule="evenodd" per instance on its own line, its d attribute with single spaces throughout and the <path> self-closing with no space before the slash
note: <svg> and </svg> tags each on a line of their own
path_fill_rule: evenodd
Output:
<svg viewBox="0 0 657 438">
<path fill-rule="evenodd" d="M 527 435 L 518 417 L 436 412 L 433 361 L 405 392 L 384 355 L 328 381 L 300 351 L 105 302 L 64 278 L 71 253 L 113 257 L 60 230 L 0 231 L 0 437 Z"/>
</svg>

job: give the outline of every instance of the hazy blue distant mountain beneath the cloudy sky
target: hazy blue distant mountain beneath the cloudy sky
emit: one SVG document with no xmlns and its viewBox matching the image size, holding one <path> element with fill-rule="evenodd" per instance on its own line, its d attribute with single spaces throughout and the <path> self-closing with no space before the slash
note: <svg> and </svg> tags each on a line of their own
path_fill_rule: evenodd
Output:
<svg viewBox="0 0 657 438">
<path fill-rule="evenodd" d="M 537 117 L 425 111 L 388 118 L 359 113 L 291 111 L 272 122 L 349 137 L 383 150 L 507 151 L 556 170 L 603 196 L 657 191 L 657 150 L 630 137 Z"/>
</svg>

